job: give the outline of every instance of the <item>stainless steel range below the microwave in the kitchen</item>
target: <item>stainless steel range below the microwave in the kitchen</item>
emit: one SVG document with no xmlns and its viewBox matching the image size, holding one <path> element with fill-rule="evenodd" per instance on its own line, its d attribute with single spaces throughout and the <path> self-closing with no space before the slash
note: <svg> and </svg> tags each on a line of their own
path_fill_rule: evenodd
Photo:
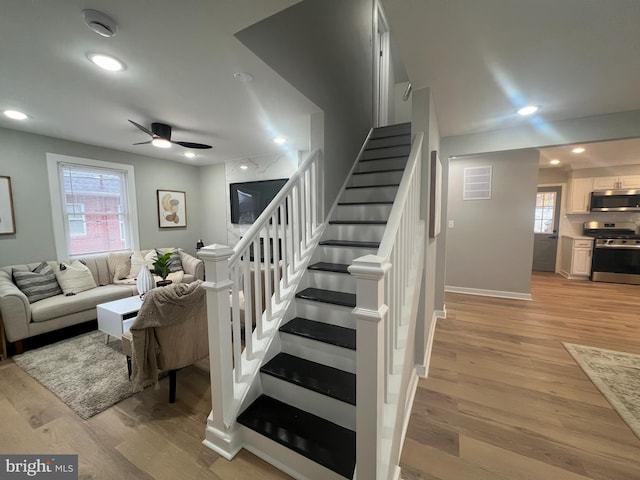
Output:
<svg viewBox="0 0 640 480">
<path fill-rule="evenodd" d="M 583 232 L 595 237 L 591 280 L 640 285 L 640 235 L 635 223 L 587 222 Z"/>
</svg>

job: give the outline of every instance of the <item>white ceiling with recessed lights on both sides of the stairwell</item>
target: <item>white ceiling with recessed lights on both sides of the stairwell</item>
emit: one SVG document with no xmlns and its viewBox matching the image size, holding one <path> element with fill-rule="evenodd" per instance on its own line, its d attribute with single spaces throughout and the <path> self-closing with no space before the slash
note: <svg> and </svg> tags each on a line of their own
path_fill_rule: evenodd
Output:
<svg viewBox="0 0 640 480">
<path fill-rule="evenodd" d="M 0 127 L 192 164 L 280 152 L 278 134 L 306 148 L 317 107 L 233 37 L 297 1 L 2 0 L 0 110 L 31 118 L 2 116 Z M 432 89 L 442 136 L 640 109 L 636 0 L 383 3 L 414 87 Z M 111 15 L 116 36 L 89 30 L 85 8 Z M 127 70 L 98 70 L 91 51 Z M 542 109 L 518 117 L 524 103 Z M 148 137 L 128 119 L 169 123 L 174 140 L 214 148 L 187 160 L 180 147 L 132 146 Z"/>
</svg>

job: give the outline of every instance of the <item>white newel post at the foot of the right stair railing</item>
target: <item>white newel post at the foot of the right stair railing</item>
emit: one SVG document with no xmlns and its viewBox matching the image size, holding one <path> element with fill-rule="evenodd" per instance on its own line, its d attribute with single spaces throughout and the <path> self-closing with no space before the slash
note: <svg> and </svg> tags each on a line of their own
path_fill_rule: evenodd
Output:
<svg viewBox="0 0 640 480">
<path fill-rule="evenodd" d="M 356 278 L 356 471 L 363 480 L 386 480 L 382 458 L 385 385 L 384 282 L 391 264 L 366 255 L 349 267 Z"/>
</svg>

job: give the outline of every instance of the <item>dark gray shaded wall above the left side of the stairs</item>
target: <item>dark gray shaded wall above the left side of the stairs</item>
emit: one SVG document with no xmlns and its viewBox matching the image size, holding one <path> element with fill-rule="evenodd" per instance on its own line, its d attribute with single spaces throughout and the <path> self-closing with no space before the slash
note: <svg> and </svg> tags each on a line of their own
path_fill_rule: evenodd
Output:
<svg viewBox="0 0 640 480">
<path fill-rule="evenodd" d="M 324 111 L 325 207 L 372 125 L 372 0 L 305 0 L 236 37 Z"/>
</svg>

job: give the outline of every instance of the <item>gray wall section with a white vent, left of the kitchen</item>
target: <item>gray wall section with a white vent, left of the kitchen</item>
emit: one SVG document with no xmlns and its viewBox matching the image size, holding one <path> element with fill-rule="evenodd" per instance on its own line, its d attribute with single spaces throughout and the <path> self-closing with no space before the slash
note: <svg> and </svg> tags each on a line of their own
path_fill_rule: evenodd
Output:
<svg viewBox="0 0 640 480">
<path fill-rule="evenodd" d="M 490 200 L 462 200 L 465 167 L 493 166 Z M 446 284 L 529 294 L 538 152 L 518 150 L 449 162 Z"/>
</svg>

